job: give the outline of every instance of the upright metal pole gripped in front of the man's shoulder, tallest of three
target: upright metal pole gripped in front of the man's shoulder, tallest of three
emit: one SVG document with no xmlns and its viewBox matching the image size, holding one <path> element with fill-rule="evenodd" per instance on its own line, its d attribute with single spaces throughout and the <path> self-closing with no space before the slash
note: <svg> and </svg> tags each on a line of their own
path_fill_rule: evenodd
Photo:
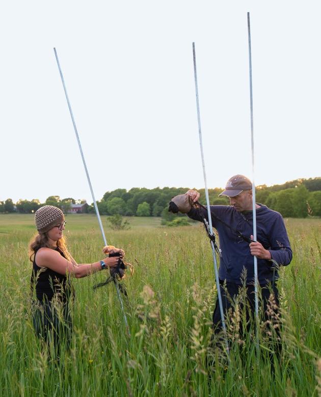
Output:
<svg viewBox="0 0 321 397">
<path fill-rule="evenodd" d="M 252 211 L 253 211 L 253 239 L 256 241 L 256 202 L 254 183 L 254 133 L 253 133 L 253 91 L 252 91 L 252 54 L 251 54 L 251 28 L 250 13 L 248 12 L 248 36 L 249 36 L 249 70 L 250 70 L 250 108 L 251 108 L 251 150 L 252 150 Z M 254 257 L 254 294 L 255 294 L 255 315 L 258 318 L 258 278 L 257 258 Z"/>
</svg>

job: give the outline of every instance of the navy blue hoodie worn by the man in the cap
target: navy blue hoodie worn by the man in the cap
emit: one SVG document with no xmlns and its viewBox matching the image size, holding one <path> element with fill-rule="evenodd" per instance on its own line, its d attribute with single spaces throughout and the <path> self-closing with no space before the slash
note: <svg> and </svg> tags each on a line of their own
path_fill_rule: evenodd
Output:
<svg viewBox="0 0 321 397">
<path fill-rule="evenodd" d="M 257 241 L 265 249 L 271 252 L 273 261 L 279 266 L 286 266 L 291 262 L 292 250 L 287 237 L 285 225 L 281 214 L 270 208 L 258 204 L 256 209 L 256 233 Z M 235 283 L 242 283 L 242 272 L 247 270 L 247 283 L 254 281 L 254 257 L 251 255 L 249 243 L 238 237 L 230 230 L 240 231 L 244 236 L 250 238 L 253 235 L 253 214 L 252 211 L 242 213 L 235 210 L 232 206 L 210 206 L 212 214 L 212 225 L 219 233 L 220 248 L 222 257 L 220 260 L 219 277 Z M 207 210 L 204 208 L 193 208 L 188 216 L 192 219 L 203 221 L 207 217 Z M 218 219 L 219 218 L 219 219 Z M 278 272 L 271 260 L 257 259 L 258 281 L 260 285 L 265 285 L 269 281 L 278 278 Z"/>
</svg>

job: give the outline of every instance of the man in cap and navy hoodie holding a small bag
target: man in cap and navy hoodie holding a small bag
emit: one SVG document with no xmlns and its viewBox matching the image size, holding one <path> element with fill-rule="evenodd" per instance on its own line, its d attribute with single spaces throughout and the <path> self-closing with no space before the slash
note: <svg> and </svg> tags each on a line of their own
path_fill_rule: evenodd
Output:
<svg viewBox="0 0 321 397">
<path fill-rule="evenodd" d="M 196 203 L 200 197 L 196 190 L 186 193 Z M 279 277 L 278 266 L 286 266 L 291 262 L 292 250 L 281 214 L 262 204 L 256 204 L 257 241 L 253 240 L 252 182 L 244 175 L 235 175 L 226 184 L 220 196 L 229 197 L 229 206 L 210 206 L 212 225 L 219 233 L 220 258 L 219 278 L 223 310 L 232 307 L 228 297 L 239 294 L 239 287 L 246 283 L 247 299 L 250 311 L 254 312 L 254 260 L 257 258 L 258 282 L 261 287 L 262 304 L 265 320 L 268 320 L 266 309 L 270 297 L 270 289 L 274 293 L 278 306 L 278 290 L 276 281 Z M 190 218 L 203 221 L 208 219 L 207 209 L 192 208 L 187 214 Z M 246 280 L 243 281 L 246 274 Z M 232 308 L 233 309 L 233 308 Z M 247 311 L 247 320 L 250 313 Z M 218 300 L 213 313 L 215 333 L 221 330 L 222 322 Z"/>
</svg>

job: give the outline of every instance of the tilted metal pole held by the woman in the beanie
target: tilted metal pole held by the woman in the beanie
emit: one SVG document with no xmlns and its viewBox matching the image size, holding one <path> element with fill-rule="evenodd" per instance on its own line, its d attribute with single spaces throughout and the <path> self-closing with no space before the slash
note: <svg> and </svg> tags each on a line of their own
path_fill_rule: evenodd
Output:
<svg viewBox="0 0 321 397">
<path fill-rule="evenodd" d="M 89 178 L 89 173 L 88 173 L 88 169 L 87 169 L 87 165 L 86 165 L 86 161 L 85 161 L 85 157 L 84 157 L 82 145 L 81 145 L 81 142 L 80 142 L 80 139 L 79 139 L 79 135 L 78 135 L 76 123 L 75 123 L 75 120 L 74 120 L 74 118 L 73 118 L 72 109 L 71 109 L 71 105 L 70 105 L 70 102 L 69 102 L 69 98 L 68 98 L 68 94 L 67 94 L 67 89 L 66 89 L 66 85 L 65 85 L 65 80 L 64 80 L 64 76 L 63 76 L 62 71 L 61 71 L 61 67 L 60 67 L 60 63 L 59 63 L 59 59 L 58 59 L 58 55 L 57 55 L 56 48 L 53 48 L 53 51 L 55 51 L 55 56 L 56 56 L 57 65 L 58 65 L 58 69 L 59 69 L 61 81 L 62 81 L 62 83 L 63 83 L 63 87 L 64 87 L 64 91 L 65 91 L 65 95 L 66 95 L 66 99 L 67 99 L 67 103 L 68 103 L 68 107 L 69 107 L 69 112 L 70 112 L 70 116 L 71 116 L 73 128 L 74 128 L 74 131 L 75 131 L 75 134 L 76 134 L 76 138 L 77 138 L 79 150 L 80 150 L 81 155 L 82 155 L 82 159 L 83 159 L 83 163 L 84 163 L 84 167 L 85 167 L 85 171 L 86 171 L 86 175 L 87 175 L 87 180 L 88 180 L 89 188 L 90 188 L 91 195 L 92 195 L 92 198 L 93 198 L 93 202 L 94 202 L 94 207 L 95 207 L 95 211 L 96 211 L 98 223 L 99 223 L 99 226 L 100 226 L 100 231 L 101 231 L 101 234 L 102 234 L 102 238 L 103 238 L 104 244 L 105 244 L 105 245 L 108 245 L 107 240 L 106 240 L 106 236 L 105 236 L 105 233 L 104 233 L 104 230 L 103 230 L 103 227 L 102 227 L 101 218 L 100 218 L 100 214 L 99 214 L 99 211 L 98 211 L 97 203 L 96 203 L 96 200 L 95 200 L 94 191 L 93 191 L 93 188 L 92 188 L 92 186 L 91 186 L 91 182 L 90 182 L 90 178 Z M 126 313 L 125 313 L 125 310 L 124 310 L 123 300 L 122 300 L 121 295 L 120 295 L 120 291 L 119 291 L 118 281 L 117 281 L 117 280 L 115 280 L 115 287 L 116 287 L 117 296 L 118 296 L 118 299 L 119 299 L 119 302 L 120 302 L 120 305 L 121 305 L 121 309 L 122 309 L 122 312 L 123 312 L 124 322 L 125 322 L 125 325 L 126 325 L 126 328 L 127 328 L 127 332 L 128 332 L 128 334 L 130 335 L 130 333 L 129 333 L 129 328 L 128 328 L 127 317 L 126 317 Z"/>
</svg>

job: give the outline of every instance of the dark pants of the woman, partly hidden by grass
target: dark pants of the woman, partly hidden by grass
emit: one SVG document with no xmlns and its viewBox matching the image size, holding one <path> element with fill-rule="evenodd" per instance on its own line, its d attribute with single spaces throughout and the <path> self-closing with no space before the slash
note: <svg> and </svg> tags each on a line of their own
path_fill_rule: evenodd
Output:
<svg viewBox="0 0 321 397">
<path fill-rule="evenodd" d="M 66 349 L 70 348 L 72 322 L 68 303 L 37 301 L 33 309 L 36 335 L 46 345 L 53 342 L 55 358 L 59 359 L 61 345 L 65 343 Z"/>
</svg>

